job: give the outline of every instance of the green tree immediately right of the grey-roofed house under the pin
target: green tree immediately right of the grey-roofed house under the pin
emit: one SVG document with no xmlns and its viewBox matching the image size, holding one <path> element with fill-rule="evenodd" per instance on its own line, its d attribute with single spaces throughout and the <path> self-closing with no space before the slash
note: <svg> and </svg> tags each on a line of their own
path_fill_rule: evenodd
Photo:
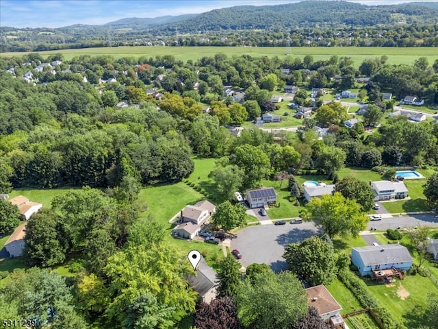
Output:
<svg viewBox="0 0 438 329">
<path fill-rule="evenodd" d="M 231 254 L 220 261 L 218 264 L 218 296 L 235 297 L 237 295 L 237 290 L 242 284 L 240 267 L 240 263 Z"/>
</svg>

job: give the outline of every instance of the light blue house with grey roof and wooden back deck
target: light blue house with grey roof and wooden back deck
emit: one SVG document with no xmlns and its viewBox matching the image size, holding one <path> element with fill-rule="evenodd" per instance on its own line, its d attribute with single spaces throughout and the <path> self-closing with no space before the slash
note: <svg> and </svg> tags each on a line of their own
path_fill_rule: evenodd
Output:
<svg viewBox="0 0 438 329">
<path fill-rule="evenodd" d="M 368 245 L 352 248 L 351 261 L 361 276 L 371 276 L 373 270 L 392 269 L 407 271 L 412 266 L 412 256 L 404 245 Z"/>
</svg>

